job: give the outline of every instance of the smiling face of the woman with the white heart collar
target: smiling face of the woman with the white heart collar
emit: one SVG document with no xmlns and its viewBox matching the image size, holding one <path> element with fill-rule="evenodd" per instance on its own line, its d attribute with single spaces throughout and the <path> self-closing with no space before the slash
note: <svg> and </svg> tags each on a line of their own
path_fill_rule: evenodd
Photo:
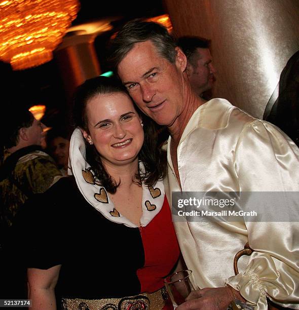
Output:
<svg viewBox="0 0 299 310">
<path fill-rule="evenodd" d="M 86 106 L 88 129 L 83 132 L 103 163 L 124 165 L 137 160 L 144 135 L 132 100 L 125 93 L 96 95 Z"/>
</svg>

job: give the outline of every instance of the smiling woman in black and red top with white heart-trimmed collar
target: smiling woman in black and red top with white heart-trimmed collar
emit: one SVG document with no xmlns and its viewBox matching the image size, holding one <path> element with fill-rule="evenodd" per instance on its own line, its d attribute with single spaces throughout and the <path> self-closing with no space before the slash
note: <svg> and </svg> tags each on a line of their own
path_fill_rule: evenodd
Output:
<svg viewBox="0 0 299 310">
<path fill-rule="evenodd" d="M 32 310 L 55 309 L 54 290 L 63 309 L 166 309 L 163 279 L 179 249 L 151 123 L 102 76 L 79 87 L 74 121 L 74 180 L 31 200 L 19 225 L 30 229 Z"/>
</svg>

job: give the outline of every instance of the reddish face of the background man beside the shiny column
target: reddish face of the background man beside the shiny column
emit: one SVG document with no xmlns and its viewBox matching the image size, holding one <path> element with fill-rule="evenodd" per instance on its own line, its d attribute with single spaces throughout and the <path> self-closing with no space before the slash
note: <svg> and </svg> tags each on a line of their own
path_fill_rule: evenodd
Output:
<svg viewBox="0 0 299 310">
<path fill-rule="evenodd" d="M 210 50 L 198 48 L 188 63 L 187 74 L 193 90 L 199 96 L 212 88 L 215 72 Z"/>
</svg>

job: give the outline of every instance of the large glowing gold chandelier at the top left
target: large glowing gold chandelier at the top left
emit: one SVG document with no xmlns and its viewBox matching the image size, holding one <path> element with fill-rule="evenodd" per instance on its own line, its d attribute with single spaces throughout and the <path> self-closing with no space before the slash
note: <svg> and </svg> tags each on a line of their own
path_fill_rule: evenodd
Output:
<svg viewBox="0 0 299 310">
<path fill-rule="evenodd" d="M 78 0 L 0 0 L 0 60 L 13 70 L 50 61 L 79 8 Z"/>
</svg>

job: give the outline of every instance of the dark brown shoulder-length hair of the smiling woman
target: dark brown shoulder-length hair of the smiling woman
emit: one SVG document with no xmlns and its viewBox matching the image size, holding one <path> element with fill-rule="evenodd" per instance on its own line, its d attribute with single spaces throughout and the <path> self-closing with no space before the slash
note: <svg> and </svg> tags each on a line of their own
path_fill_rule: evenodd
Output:
<svg viewBox="0 0 299 310">
<path fill-rule="evenodd" d="M 77 88 L 73 100 L 73 126 L 80 127 L 89 133 L 86 106 L 89 100 L 96 95 L 125 93 L 125 87 L 114 78 L 97 76 L 96 78 L 85 81 Z M 137 112 L 139 110 L 136 108 Z M 146 185 L 154 185 L 159 179 L 163 178 L 166 173 L 166 152 L 158 147 L 157 125 L 142 114 L 144 143 L 138 155 L 145 168 L 145 173 L 139 172 L 136 180 L 139 184 L 144 182 Z M 110 193 L 115 193 L 119 184 L 107 173 L 100 154 L 94 145 L 85 141 L 86 160 L 91 166 L 95 177 Z"/>
</svg>

